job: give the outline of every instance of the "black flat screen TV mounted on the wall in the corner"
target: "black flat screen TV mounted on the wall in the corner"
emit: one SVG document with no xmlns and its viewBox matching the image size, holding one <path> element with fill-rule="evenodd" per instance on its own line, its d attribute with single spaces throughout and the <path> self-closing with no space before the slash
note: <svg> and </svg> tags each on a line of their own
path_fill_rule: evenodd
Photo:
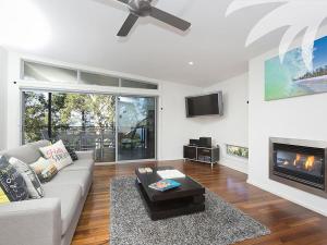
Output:
<svg viewBox="0 0 327 245">
<path fill-rule="evenodd" d="M 222 115 L 222 91 L 210 95 L 186 97 L 186 117 Z"/>
</svg>

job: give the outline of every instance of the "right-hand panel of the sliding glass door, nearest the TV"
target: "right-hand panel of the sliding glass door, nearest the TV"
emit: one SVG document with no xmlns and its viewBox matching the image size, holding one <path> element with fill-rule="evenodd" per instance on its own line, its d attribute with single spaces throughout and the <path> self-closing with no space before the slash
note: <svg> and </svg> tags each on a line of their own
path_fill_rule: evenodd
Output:
<svg viewBox="0 0 327 245">
<path fill-rule="evenodd" d="M 156 158 L 156 98 L 119 97 L 118 160 Z"/>
</svg>

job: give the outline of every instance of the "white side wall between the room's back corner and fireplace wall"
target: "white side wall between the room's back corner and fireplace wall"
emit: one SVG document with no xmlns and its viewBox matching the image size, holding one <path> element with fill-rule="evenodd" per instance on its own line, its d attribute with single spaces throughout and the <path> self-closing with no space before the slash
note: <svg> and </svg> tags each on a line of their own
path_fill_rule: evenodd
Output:
<svg viewBox="0 0 327 245">
<path fill-rule="evenodd" d="M 226 152 L 226 144 L 247 147 L 247 73 L 206 87 L 204 93 L 222 90 L 223 117 L 198 118 L 201 135 L 213 137 L 220 146 L 220 163 L 238 171 L 247 172 L 247 159 Z"/>
</svg>

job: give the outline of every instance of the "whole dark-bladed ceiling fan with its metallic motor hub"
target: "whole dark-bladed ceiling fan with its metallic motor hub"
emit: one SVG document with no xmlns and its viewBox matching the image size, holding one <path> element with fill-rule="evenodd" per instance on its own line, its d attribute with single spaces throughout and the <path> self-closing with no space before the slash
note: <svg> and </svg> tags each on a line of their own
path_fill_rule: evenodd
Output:
<svg viewBox="0 0 327 245">
<path fill-rule="evenodd" d="M 125 37 L 131 32 L 138 17 L 152 16 L 168 25 L 185 32 L 190 28 L 191 23 L 179 19 L 170 13 L 153 7 L 152 0 L 118 0 L 128 5 L 130 15 L 125 20 L 117 36 Z"/>
</svg>

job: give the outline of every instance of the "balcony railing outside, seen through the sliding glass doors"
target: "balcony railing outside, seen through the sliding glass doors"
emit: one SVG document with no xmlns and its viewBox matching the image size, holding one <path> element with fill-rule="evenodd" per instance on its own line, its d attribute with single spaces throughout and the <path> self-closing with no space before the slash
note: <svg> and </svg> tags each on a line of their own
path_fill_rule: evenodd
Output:
<svg viewBox="0 0 327 245">
<path fill-rule="evenodd" d="M 118 142 L 120 147 L 120 160 L 124 159 L 124 155 L 135 154 L 147 156 L 147 127 L 128 127 L 124 128 L 125 133 L 118 133 Z M 37 133 L 33 140 L 48 139 L 52 143 L 61 139 L 65 145 L 70 146 L 74 150 L 94 150 L 95 159 L 98 162 L 113 162 L 116 161 L 116 131 L 112 127 L 57 127 L 52 130 L 51 136 L 49 136 L 48 127 L 41 130 L 34 128 L 34 134 Z M 25 131 L 25 138 L 28 131 Z M 145 157 L 144 156 L 144 157 Z"/>
</svg>

